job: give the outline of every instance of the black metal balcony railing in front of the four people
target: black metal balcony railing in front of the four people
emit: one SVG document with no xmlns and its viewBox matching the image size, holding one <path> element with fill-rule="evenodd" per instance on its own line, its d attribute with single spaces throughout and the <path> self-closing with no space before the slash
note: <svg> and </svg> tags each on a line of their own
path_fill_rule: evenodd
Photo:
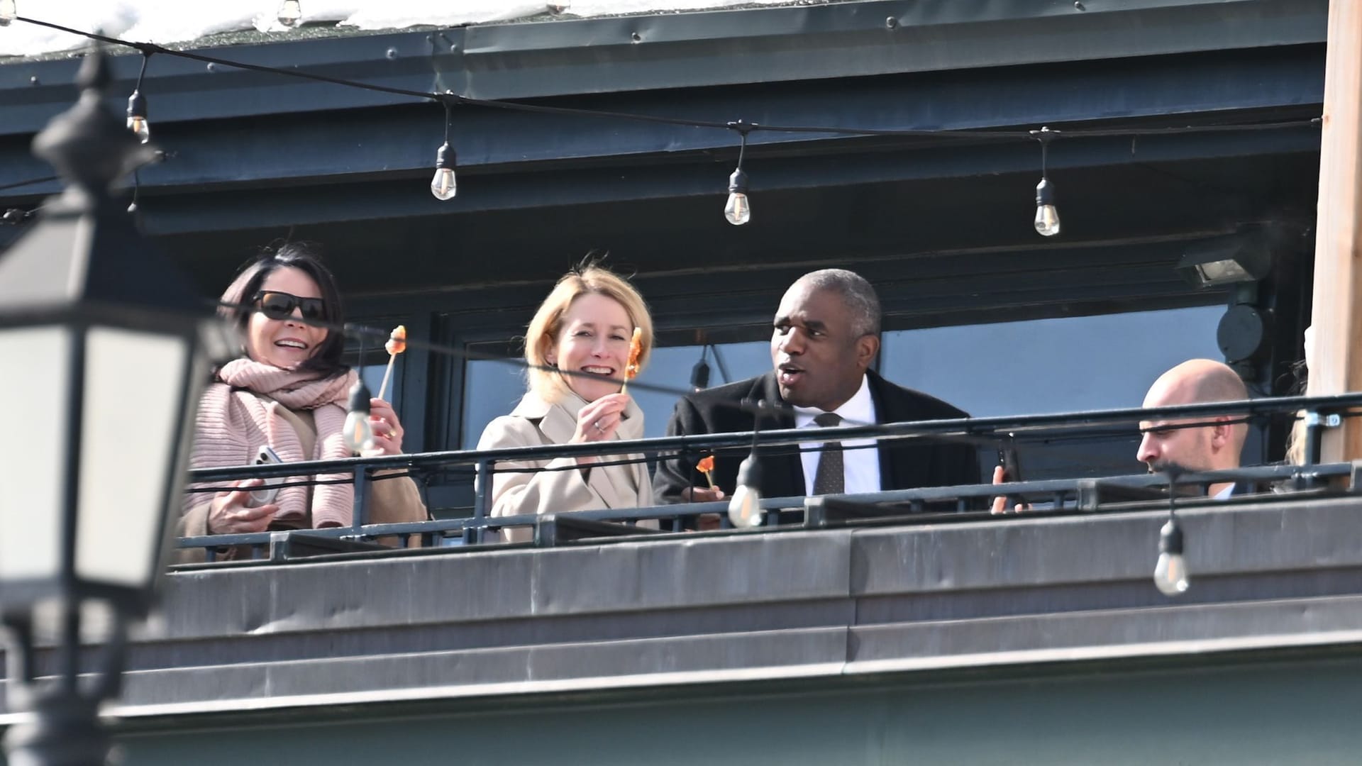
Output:
<svg viewBox="0 0 1362 766">
<path fill-rule="evenodd" d="M 757 406 L 753 403 L 752 406 Z M 1318 444 L 1327 428 L 1336 427 L 1344 417 L 1362 414 L 1362 394 L 1336 397 L 1282 397 L 1242 402 L 1218 402 L 1204 405 L 1182 405 L 1156 409 L 1113 409 L 1039 416 L 977 417 L 933 420 L 915 423 L 891 423 L 874 425 L 844 425 L 823 428 L 817 432 L 820 442 L 846 442 L 853 439 L 878 440 L 955 440 L 978 446 L 1039 443 L 1058 438 L 1073 436 L 1129 436 L 1141 420 L 1189 420 L 1181 427 L 1194 427 L 1197 418 L 1214 416 L 1237 416 L 1246 421 L 1273 416 L 1302 417 L 1306 423 L 1305 465 L 1272 465 L 1239 468 L 1227 472 L 1188 473 L 1177 478 L 1179 487 L 1207 487 L 1220 481 L 1244 481 L 1254 485 L 1273 484 L 1293 491 L 1312 493 L 1362 492 L 1362 461 L 1355 463 L 1317 462 Z M 251 534 L 221 534 L 207 537 L 180 538 L 178 548 L 207 548 L 248 545 L 257 559 L 287 560 L 306 553 L 373 555 L 376 551 L 355 551 L 346 553 L 346 542 L 369 541 L 376 537 L 399 536 L 406 544 L 411 536 L 419 536 L 421 548 L 426 552 L 456 542 L 464 549 L 486 545 L 511 545 L 493 542 L 493 533 L 503 527 L 534 527 L 535 547 L 550 547 L 575 540 L 595 541 L 610 538 L 636 538 L 637 536 L 666 534 L 682 532 L 685 521 L 703 514 L 719 514 L 723 527 L 727 527 L 727 503 L 685 503 L 652 506 L 643 508 L 603 508 L 591 511 L 567 511 L 548 515 L 492 517 L 488 482 L 477 481 L 471 514 L 464 518 L 443 518 L 424 522 L 370 525 L 368 523 L 369 488 L 373 481 L 384 481 L 399 476 L 424 477 L 449 470 L 470 470 L 477 476 L 488 476 L 497 470 L 501 461 L 538 459 L 548 461 L 560 457 L 610 457 L 644 454 L 655 459 L 670 459 L 677 455 L 692 461 L 710 453 L 746 453 L 753 443 L 763 451 L 779 448 L 799 448 L 810 442 L 808 429 L 760 431 L 757 433 L 714 433 L 692 436 L 665 436 L 655 439 L 618 440 L 609 443 L 550 444 L 538 447 L 509 447 L 500 450 L 452 450 L 443 453 L 419 453 L 405 455 L 384 455 L 373 458 L 347 458 L 340 461 L 309 461 L 270 466 L 234 466 L 200 469 L 191 472 L 189 480 L 200 487 L 196 492 L 227 489 L 232 481 L 240 478 L 294 478 L 298 484 L 315 484 L 311 477 L 317 474 L 349 473 L 354 482 L 354 522 L 349 527 L 304 529 L 290 532 L 260 532 Z M 398 469 L 394 472 L 394 469 Z M 391 472 L 375 476 L 377 472 Z M 293 484 L 290 481 L 289 484 Z M 791 529 L 819 529 L 842 523 L 918 523 L 930 521 L 968 522 L 998 519 L 979 511 L 994 496 L 1008 495 L 1032 504 L 1032 512 L 1083 514 L 1107 510 L 1135 510 L 1140 507 L 1166 508 L 1167 500 L 1158 499 L 1160 489 L 1167 489 L 1169 477 L 1162 474 L 1120 476 L 1107 478 L 1062 478 L 1043 481 L 1017 481 L 1008 484 L 970 484 L 959 487 L 936 487 L 902 489 L 864 495 L 838 495 L 823 497 L 764 497 L 761 508 L 767 511 L 764 526 L 755 530 L 720 529 L 699 534 L 750 534 Z M 1162 495 L 1166 497 L 1166 493 Z M 1194 497 L 1184 497 L 1181 503 L 1196 503 Z M 1261 502 L 1250 497 L 1235 502 Z M 776 514 L 772 511 L 789 511 Z M 797 512 L 795 512 L 797 511 Z M 633 522 L 656 519 L 662 530 L 633 526 Z M 791 521 L 794 519 L 794 521 Z M 695 533 L 692 533 L 695 534 Z M 362 548 L 353 545 L 353 548 Z M 448 549 L 448 548 L 445 548 Z M 268 553 L 268 555 L 266 555 Z"/>
</svg>

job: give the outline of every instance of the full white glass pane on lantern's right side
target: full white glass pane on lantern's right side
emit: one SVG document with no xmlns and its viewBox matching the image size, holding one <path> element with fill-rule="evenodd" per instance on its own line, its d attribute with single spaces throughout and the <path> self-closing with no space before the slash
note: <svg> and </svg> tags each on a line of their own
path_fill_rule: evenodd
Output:
<svg viewBox="0 0 1362 766">
<path fill-rule="evenodd" d="M 95 327 L 86 337 L 80 579 L 140 587 L 155 574 L 168 489 L 180 487 L 189 352 L 183 335 Z"/>
</svg>

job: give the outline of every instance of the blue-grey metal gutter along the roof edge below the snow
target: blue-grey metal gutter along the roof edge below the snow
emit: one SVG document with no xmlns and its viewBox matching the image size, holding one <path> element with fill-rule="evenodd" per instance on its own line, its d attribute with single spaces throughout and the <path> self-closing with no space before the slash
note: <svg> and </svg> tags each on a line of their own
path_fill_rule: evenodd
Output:
<svg viewBox="0 0 1362 766">
<path fill-rule="evenodd" d="M 884 0 L 507 23 L 215 48 L 252 64 L 477 98 L 936 72 L 1320 44 L 1327 0 Z M 140 59 L 113 61 L 131 90 Z M 0 64 L 0 135 L 37 131 L 74 98 L 75 61 Z M 407 97 L 159 57 L 159 121 L 411 104 Z M 1043 97 L 1043 95 L 1042 95 Z"/>
</svg>

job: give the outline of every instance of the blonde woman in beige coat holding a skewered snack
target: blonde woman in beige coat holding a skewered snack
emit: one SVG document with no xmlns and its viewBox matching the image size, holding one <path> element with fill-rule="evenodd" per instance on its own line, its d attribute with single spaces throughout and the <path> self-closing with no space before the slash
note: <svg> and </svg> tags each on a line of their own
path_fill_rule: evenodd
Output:
<svg viewBox="0 0 1362 766">
<path fill-rule="evenodd" d="M 601 266 L 558 279 L 526 333 L 528 391 L 511 414 L 488 424 L 478 448 L 642 439 L 643 412 L 620 391 L 635 327 L 642 369 L 652 350 L 652 318 L 639 292 Z M 628 458 L 639 462 L 602 465 Z M 643 455 L 507 461 L 493 472 L 493 517 L 651 504 Z M 530 532 L 504 536 L 524 541 Z"/>
</svg>

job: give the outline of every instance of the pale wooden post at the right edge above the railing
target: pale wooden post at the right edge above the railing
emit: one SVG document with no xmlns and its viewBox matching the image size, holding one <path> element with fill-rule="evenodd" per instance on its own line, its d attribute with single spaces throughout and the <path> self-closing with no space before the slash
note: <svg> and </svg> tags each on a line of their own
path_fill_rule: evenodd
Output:
<svg viewBox="0 0 1362 766">
<path fill-rule="evenodd" d="M 1362 391 L 1362 3 L 1329 3 L 1314 234 L 1310 395 Z M 1324 435 L 1325 462 L 1362 458 L 1362 418 Z"/>
</svg>

